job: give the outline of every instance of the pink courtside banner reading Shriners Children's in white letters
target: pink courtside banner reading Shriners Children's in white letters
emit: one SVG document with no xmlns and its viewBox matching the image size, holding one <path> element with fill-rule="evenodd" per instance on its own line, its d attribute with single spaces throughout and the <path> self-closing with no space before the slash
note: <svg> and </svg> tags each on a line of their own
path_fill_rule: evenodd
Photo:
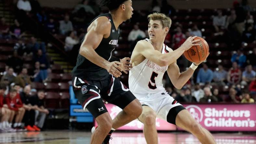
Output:
<svg viewBox="0 0 256 144">
<path fill-rule="evenodd" d="M 183 104 L 183 106 L 198 123 L 210 131 L 256 131 L 256 104 Z"/>
</svg>

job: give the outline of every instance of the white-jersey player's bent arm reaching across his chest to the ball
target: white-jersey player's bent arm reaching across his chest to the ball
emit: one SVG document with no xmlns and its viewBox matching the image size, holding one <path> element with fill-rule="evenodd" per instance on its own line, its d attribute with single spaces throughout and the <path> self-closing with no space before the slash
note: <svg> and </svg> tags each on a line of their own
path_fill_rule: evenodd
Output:
<svg viewBox="0 0 256 144">
<path fill-rule="evenodd" d="M 195 42 L 200 40 L 193 41 L 195 37 L 187 38 L 181 47 L 167 54 L 162 54 L 159 51 L 154 50 L 153 46 L 149 42 L 143 40 L 137 42 L 134 50 L 136 53 L 142 54 L 144 57 L 158 64 L 159 66 L 169 66 L 170 64 L 174 63 L 186 50 L 190 49 L 192 46 L 199 45 Z"/>
</svg>

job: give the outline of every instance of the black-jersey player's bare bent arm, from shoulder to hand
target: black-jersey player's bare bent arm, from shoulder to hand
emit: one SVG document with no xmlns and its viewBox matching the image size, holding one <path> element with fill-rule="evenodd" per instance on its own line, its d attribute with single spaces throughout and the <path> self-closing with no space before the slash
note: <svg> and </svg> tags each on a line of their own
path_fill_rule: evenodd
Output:
<svg viewBox="0 0 256 144">
<path fill-rule="evenodd" d="M 79 54 L 97 66 L 107 69 L 107 71 L 114 77 L 120 77 L 122 75 L 121 72 L 123 71 L 123 69 L 118 66 L 120 65 L 120 62 L 109 62 L 95 52 L 95 49 L 99 46 L 103 37 L 109 37 L 110 29 L 111 23 L 107 17 L 97 18 L 88 27 L 87 34 L 81 44 Z"/>
</svg>

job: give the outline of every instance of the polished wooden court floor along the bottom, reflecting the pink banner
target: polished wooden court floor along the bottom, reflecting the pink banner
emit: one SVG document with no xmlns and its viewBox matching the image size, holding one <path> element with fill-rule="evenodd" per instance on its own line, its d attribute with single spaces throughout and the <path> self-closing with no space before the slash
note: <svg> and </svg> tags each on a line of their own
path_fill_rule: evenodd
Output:
<svg viewBox="0 0 256 144">
<path fill-rule="evenodd" d="M 1 144 L 89 144 L 90 132 L 43 131 L 0 133 Z M 256 144 L 256 133 L 214 133 L 218 144 Z M 142 132 L 115 132 L 110 144 L 146 144 Z M 159 144 L 200 144 L 193 135 L 183 132 L 159 133 Z"/>
</svg>

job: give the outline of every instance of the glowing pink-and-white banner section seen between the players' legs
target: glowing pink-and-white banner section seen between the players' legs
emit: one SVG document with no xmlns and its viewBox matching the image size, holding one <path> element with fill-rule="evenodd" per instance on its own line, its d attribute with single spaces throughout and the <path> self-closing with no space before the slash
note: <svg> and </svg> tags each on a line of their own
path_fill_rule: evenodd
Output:
<svg viewBox="0 0 256 144">
<path fill-rule="evenodd" d="M 114 119 L 116 115 L 122 111 L 121 108 L 113 104 L 108 103 L 108 104 L 105 104 L 105 106 L 108 109 L 108 112 L 112 119 Z M 97 125 L 96 121 L 95 121 L 95 125 Z M 157 130 L 176 130 L 177 129 L 175 125 L 169 124 L 168 122 L 161 120 L 159 118 L 157 118 L 156 120 L 156 127 L 157 127 Z M 118 130 L 142 130 L 142 129 L 143 129 L 143 124 L 138 120 L 134 120 L 128 123 L 127 125 L 118 128 Z"/>
</svg>

